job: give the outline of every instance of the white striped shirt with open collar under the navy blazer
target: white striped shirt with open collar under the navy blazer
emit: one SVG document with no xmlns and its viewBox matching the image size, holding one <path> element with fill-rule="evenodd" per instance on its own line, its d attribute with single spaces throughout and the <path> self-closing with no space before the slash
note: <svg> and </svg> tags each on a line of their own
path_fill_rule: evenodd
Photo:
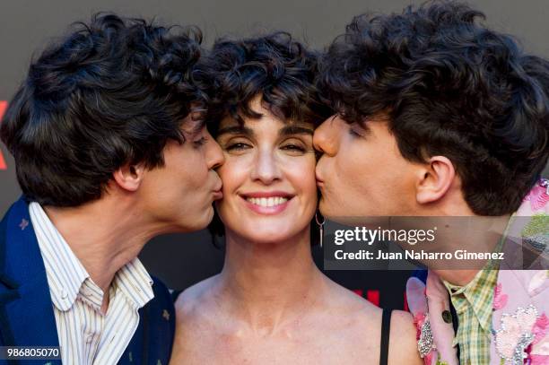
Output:
<svg viewBox="0 0 549 365">
<path fill-rule="evenodd" d="M 42 207 L 32 202 L 30 220 L 46 267 L 64 364 L 115 364 L 139 324 L 138 309 L 153 299 L 153 280 L 139 259 L 126 264 L 109 287 L 109 309 L 100 311 L 103 291 L 92 281 Z"/>
</svg>

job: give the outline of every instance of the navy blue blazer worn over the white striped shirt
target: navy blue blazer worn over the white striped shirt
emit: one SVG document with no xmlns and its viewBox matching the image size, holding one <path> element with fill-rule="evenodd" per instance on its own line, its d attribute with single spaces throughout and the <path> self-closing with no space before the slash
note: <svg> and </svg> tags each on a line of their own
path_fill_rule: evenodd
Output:
<svg viewBox="0 0 549 365">
<path fill-rule="evenodd" d="M 175 309 L 166 286 L 153 280 L 154 299 L 139 309 L 139 326 L 118 364 L 170 360 Z M 24 197 L 0 222 L 0 346 L 59 346 L 46 269 Z M 61 361 L 0 360 L 2 365 L 47 363 Z"/>
</svg>

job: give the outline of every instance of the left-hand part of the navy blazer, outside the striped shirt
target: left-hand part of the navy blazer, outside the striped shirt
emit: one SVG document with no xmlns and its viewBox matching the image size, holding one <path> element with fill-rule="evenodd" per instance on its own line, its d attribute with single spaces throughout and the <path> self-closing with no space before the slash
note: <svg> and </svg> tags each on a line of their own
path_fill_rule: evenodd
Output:
<svg viewBox="0 0 549 365">
<path fill-rule="evenodd" d="M 59 346 L 46 269 L 23 198 L 5 214 L 2 227 L 0 338 L 4 345 Z"/>
</svg>

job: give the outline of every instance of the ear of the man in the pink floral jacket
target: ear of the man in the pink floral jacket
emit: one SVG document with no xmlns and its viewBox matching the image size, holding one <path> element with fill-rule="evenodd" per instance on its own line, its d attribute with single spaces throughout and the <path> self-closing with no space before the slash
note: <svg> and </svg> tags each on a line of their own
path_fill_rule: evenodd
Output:
<svg viewBox="0 0 549 365">
<path fill-rule="evenodd" d="M 418 171 L 415 198 L 419 204 L 429 204 L 440 200 L 451 187 L 456 177 L 456 169 L 448 158 L 432 156 Z"/>
</svg>

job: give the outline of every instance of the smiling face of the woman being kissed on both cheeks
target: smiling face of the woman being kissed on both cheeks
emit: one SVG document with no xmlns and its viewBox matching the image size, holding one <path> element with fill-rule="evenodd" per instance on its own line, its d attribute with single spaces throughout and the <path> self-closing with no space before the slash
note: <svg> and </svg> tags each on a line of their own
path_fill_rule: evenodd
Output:
<svg viewBox="0 0 549 365">
<path fill-rule="evenodd" d="M 318 201 L 313 125 L 280 120 L 260 96 L 250 108 L 262 117 L 245 117 L 243 125 L 226 117 L 217 135 L 225 155 L 217 212 L 225 230 L 258 243 L 309 235 Z"/>
</svg>

